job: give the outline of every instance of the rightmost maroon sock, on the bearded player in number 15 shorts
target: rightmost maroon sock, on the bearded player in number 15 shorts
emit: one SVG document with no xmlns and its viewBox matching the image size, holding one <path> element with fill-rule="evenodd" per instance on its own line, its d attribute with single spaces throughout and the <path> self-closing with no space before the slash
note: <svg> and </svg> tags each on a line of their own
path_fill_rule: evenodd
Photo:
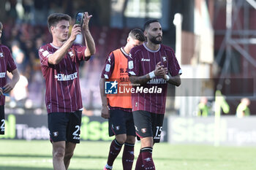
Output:
<svg viewBox="0 0 256 170">
<path fill-rule="evenodd" d="M 143 161 L 144 168 L 146 170 L 147 169 L 155 170 L 154 161 L 152 159 L 152 151 L 153 151 L 152 147 L 143 147 L 141 149 L 142 161 Z"/>
</svg>

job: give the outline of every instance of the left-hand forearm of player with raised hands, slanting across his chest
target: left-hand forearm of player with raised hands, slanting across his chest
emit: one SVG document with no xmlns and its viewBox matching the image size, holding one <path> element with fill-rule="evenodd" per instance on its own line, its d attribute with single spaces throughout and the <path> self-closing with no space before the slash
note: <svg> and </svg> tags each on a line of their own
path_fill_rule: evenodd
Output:
<svg viewBox="0 0 256 170">
<path fill-rule="evenodd" d="M 73 42 L 73 39 L 67 39 L 67 42 L 65 42 L 64 45 L 62 45 L 58 50 L 56 50 L 55 53 L 49 55 L 48 62 L 54 65 L 61 62 L 61 60 L 67 54 L 69 48 L 72 46 Z"/>
</svg>

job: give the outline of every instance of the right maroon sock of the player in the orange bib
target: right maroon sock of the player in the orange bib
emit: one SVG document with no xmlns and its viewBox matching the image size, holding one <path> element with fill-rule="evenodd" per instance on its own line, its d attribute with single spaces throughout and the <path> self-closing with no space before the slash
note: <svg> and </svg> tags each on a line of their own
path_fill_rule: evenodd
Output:
<svg viewBox="0 0 256 170">
<path fill-rule="evenodd" d="M 135 158 L 134 149 L 135 144 L 124 143 L 124 152 L 122 158 L 124 170 L 132 170 L 132 163 Z"/>
</svg>

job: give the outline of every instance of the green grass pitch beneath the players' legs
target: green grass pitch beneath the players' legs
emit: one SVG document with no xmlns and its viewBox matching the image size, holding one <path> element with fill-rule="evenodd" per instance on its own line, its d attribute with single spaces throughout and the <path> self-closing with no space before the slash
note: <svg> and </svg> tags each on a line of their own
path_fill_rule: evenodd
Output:
<svg viewBox="0 0 256 170">
<path fill-rule="evenodd" d="M 70 170 L 102 170 L 110 142 L 81 142 L 75 149 Z M 140 143 L 135 145 L 135 160 Z M 122 151 L 121 151 L 122 152 Z M 155 144 L 157 170 L 255 170 L 256 147 L 213 147 L 200 145 Z M 0 170 L 53 169 L 48 141 L 0 140 Z M 133 164 L 135 169 L 135 163 Z M 122 170 L 121 154 L 113 170 Z"/>
</svg>

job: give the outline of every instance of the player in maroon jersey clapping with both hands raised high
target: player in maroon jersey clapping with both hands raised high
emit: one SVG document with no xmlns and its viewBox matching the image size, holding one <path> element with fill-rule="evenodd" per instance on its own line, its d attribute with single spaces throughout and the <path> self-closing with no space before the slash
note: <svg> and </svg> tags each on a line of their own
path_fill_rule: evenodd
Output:
<svg viewBox="0 0 256 170">
<path fill-rule="evenodd" d="M 48 112 L 50 142 L 53 145 L 53 168 L 69 166 L 80 142 L 83 104 L 79 83 L 79 63 L 95 53 L 94 39 L 89 31 L 92 15 L 84 12 L 83 26 L 75 24 L 69 36 L 69 15 L 55 13 L 48 17 L 53 42 L 39 49 L 42 75 L 45 78 L 45 104 Z M 86 47 L 73 44 L 83 34 Z"/>
</svg>

